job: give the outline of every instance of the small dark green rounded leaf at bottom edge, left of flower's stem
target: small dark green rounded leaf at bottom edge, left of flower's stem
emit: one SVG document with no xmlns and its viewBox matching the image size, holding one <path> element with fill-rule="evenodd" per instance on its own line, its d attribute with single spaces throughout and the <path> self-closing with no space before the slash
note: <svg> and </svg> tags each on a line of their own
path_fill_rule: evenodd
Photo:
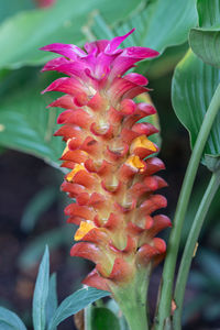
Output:
<svg viewBox="0 0 220 330">
<path fill-rule="evenodd" d="M 91 330 L 120 330 L 116 315 L 108 308 L 95 307 L 91 310 Z"/>
</svg>

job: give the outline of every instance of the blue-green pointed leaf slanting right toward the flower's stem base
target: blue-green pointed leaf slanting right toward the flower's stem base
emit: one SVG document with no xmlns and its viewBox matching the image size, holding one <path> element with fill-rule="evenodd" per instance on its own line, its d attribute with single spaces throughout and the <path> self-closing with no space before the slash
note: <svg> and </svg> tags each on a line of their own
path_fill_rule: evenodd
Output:
<svg viewBox="0 0 220 330">
<path fill-rule="evenodd" d="M 92 287 L 86 287 L 77 290 L 59 305 L 52 319 L 48 330 L 53 330 L 63 320 L 84 309 L 87 305 L 109 295 L 109 292 L 98 290 Z"/>
</svg>

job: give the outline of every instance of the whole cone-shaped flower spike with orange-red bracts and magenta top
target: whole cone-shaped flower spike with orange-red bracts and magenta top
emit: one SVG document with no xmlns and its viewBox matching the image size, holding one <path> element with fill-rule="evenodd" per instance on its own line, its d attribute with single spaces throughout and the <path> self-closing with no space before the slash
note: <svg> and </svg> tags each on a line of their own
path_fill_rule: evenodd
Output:
<svg viewBox="0 0 220 330">
<path fill-rule="evenodd" d="M 48 107 L 66 109 L 55 133 L 66 141 L 63 165 L 69 168 L 62 189 L 76 199 L 66 207 L 68 222 L 79 226 L 72 255 L 91 260 L 96 268 L 85 284 L 111 289 L 132 280 L 141 267 L 152 266 L 165 253 L 165 242 L 155 238 L 170 226 L 166 216 L 151 216 L 166 207 L 153 194 L 166 186 L 155 174 L 164 168 L 157 146 L 147 136 L 157 132 L 139 120 L 155 113 L 150 103 L 133 98 L 146 92 L 142 75 L 124 75 L 135 63 L 158 53 L 145 47 L 118 48 L 131 33 L 85 45 L 52 44 L 43 47 L 61 54 L 43 70 L 67 75 L 45 91 L 65 95 Z"/>
</svg>

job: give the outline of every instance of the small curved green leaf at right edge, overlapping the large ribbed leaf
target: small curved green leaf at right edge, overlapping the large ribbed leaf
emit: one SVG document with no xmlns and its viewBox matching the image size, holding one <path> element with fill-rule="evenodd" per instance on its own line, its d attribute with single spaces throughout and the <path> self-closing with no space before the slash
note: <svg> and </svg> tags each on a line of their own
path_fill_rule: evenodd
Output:
<svg viewBox="0 0 220 330">
<path fill-rule="evenodd" d="M 205 63 L 220 67 L 220 25 L 215 30 L 191 29 L 189 44 Z"/>
</svg>

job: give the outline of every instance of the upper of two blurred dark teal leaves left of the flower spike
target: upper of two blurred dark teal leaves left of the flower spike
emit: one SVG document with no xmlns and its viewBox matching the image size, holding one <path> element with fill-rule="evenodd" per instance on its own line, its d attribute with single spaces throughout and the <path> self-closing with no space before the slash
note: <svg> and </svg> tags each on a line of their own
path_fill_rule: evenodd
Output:
<svg viewBox="0 0 220 330">
<path fill-rule="evenodd" d="M 28 204 L 21 219 L 21 228 L 25 232 L 33 230 L 37 219 L 52 206 L 57 197 L 57 189 L 45 187 Z"/>
</svg>

